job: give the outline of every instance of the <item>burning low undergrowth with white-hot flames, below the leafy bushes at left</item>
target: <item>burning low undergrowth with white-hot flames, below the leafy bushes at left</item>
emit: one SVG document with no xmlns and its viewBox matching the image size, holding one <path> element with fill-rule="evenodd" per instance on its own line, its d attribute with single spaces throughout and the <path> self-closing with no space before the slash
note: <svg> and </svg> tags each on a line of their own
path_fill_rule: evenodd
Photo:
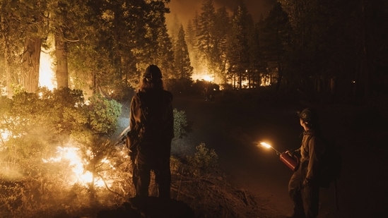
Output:
<svg viewBox="0 0 388 218">
<path fill-rule="evenodd" d="M 56 156 L 23 170 L 30 175 L 2 176 L 0 216 L 93 217 L 96 209 L 126 200 L 133 193 L 126 148 L 105 143 L 100 149 L 92 155 L 78 147 L 57 147 Z"/>
</svg>

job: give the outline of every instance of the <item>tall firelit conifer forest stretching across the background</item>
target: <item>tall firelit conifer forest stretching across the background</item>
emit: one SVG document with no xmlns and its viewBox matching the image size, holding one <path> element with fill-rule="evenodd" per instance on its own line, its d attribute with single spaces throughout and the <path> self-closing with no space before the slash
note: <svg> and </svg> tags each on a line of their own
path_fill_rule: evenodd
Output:
<svg viewBox="0 0 388 218">
<path fill-rule="evenodd" d="M 150 63 L 170 90 L 206 76 L 225 88 L 273 85 L 313 98 L 387 92 L 386 1 L 278 0 L 255 22 L 243 1 L 228 11 L 204 0 L 186 26 L 175 16 L 167 28 L 169 2 L 1 1 L 1 95 L 38 90 L 42 51 L 57 88 L 114 99 Z"/>
</svg>

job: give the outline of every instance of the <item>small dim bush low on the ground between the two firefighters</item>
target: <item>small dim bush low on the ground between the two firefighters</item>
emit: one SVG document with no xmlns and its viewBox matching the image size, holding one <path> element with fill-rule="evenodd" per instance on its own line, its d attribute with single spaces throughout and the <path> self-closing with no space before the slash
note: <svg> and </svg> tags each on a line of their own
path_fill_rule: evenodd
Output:
<svg viewBox="0 0 388 218">
<path fill-rule="evenodd" d="M 210 150 L 205 143 L 196 146 L 194 156 L 188 157 L 190 171 L 194 176 L 211 173 L 218 166 L 218 155 L 215 150 Z"/>
</svg>

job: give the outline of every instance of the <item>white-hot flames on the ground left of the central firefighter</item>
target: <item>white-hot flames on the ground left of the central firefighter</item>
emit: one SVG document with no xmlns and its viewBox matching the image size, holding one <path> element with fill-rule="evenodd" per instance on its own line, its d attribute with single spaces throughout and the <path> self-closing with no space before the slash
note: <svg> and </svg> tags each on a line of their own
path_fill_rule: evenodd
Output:
<svg viewBox="0 0 388 218">
<path fill-rule="evenodd" d="M 91 152 L 88 151 L 88 154 L 91 154 Z M 85 169 L 77 147 L 57 147 L 57 157 L 43 159 L 43 162 L 69 162 L 69 168 L 73 174 L 71 178 L 69 178 L 69 183 L 71 184 L 81 183 L 83 186 L 88 186 L 88 184 L 94 181 L 95 187 L 105 186 L 105 183 L 101 178 L 96 176 L 93 178 L 93 173 Z M 110 164 L 110 161 L 107 158 L 102 159 L 101 162 L 108 164 L 110 168 L 113 169 L 112 164 Z M 105 182 L 107 183 L 107 186 L 112 184 L 112 181 Z"/>
</svg>

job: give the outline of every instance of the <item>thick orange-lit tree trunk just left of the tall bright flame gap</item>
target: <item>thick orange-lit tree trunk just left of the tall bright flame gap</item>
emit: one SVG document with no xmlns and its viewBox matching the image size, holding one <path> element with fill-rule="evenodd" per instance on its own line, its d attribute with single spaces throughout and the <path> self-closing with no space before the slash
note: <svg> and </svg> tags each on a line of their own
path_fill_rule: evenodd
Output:
<svg viewBox="0 0 388 218">
<path fill-rule="evenodd" d="M 22 85 L 27 92 L 35 92 L 39 87 L 40 46 L 39 37 L 25 39 L 23 52 Z"/>
</svg>

